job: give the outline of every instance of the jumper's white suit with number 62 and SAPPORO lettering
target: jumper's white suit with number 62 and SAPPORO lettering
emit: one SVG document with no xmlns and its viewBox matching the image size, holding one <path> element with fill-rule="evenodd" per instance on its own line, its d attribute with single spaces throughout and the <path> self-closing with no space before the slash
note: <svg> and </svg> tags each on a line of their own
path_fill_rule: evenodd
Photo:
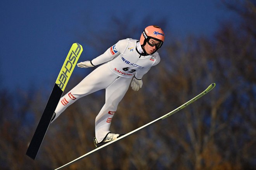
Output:
<svg viewBox="0 0 256 170">
<path fill-rule="evenodd" d="M 159 61 L 159 54 L 144 53 L 138 40 L 118 41 L 105 53 L 91 61 L 94 66 L 102 65 L 61 98 L 55 110 L 54 120 L 79 98 L 106 89 L 105 104 L 95 119 L 95 137 L 101 142 L 110 132 L 112 117 L 128 90 L 132 78 L 135 76 L 137 79 L 142 79 L 143 75 Z"/>
</svg>

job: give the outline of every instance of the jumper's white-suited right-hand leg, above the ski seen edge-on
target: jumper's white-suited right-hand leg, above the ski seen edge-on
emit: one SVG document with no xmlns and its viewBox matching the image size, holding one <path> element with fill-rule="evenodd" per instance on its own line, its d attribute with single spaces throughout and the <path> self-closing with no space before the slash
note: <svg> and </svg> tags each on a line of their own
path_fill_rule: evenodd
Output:
<svg viewBox="0 0 256 170">
<path fill-rule="evenodd" d="M 117 78 L 109 87 L 106 88 L 106 103 L 100 110 L 95 119 L 95 137 L 100 143 L 109 133 L 112 117 L 116 112 L 119 102 L 125 96 L 131 78 Z"/>
</svg>

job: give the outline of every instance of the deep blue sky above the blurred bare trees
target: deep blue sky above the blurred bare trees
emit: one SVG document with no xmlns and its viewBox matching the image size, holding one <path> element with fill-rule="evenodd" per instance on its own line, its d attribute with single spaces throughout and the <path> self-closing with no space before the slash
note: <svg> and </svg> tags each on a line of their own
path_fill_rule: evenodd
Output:
<svg viewBox="0 0 256 170">
<path fill-rule="evenodd" d="M 211 36 L 219 21 L 229 17 L 220 0 L 4 1 L 0 6 L 0 89 L 53 87 L 71 45 L 80 36 L 92 36 L 85 30 L 111 30 L 112 17 L 128 14 L 135 25 L 146 16 L 165 18 L 168 30 L 164 31 L 177 37 Z M 80 61 L 97 57 L 85 46 L 88 42 L 79 43 L 84 47 Z M 78 67 L 73 74 L 77 73 L 82 73 Z"/>
</svg>

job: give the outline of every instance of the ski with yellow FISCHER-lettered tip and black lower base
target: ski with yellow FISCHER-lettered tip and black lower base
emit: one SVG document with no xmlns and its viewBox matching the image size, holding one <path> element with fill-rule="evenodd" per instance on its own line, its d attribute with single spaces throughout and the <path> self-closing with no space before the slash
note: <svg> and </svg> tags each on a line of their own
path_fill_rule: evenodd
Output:
<svg viewBox="0 0 256 170">
<path fill-rule="evenodd" d="M 80 44 L 74 43 L 71 46 L 69 53 L 65 59 L 65 62 L 61 68 L 61 71 L 58 75 L 58 78 L 54 84 L 48 102 L 43 111 L 42 117 L 38 123 L 35 134 L 28 146 L 26 155 L 35 160 L 36 155 L 40 149 L 40 146 L 43 142 L 43 138 L 47 132 L 47 129 L 50 125 L 50 121 L 54 114 L 54 111 L 57 107 L 59 100 L 61 99 L 62 93 L 64 92 L 67 82 L 76 66 L 76 63 L 83 51 L 83 48 Z"/>
</svg>

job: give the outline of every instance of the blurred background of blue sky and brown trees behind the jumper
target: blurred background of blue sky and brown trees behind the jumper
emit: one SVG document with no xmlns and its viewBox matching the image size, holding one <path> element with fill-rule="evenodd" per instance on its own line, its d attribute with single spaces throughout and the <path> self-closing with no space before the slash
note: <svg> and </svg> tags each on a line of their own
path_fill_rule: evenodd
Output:
<svg viewBox="0 0 256 170">
<path fill-rule="evenodd" d="M 48 170 L 94 149 L 104 90 L 50 124 L 36 160 L 25 155 L 64 59 L 80 61 L 158 25 L 161 62 L 129 89 L 111 124 L 128 133 L 216 87 L 176 114 L 67 167 L 70 170 L 252 170 L 256 167 L 256 1 L 9 1 L 0 6 L 0 167 Z M 80 62 L 78 61 L 78 62 Z M 64 93 L 94 68 L 76 67 Z"/>
</svg>

